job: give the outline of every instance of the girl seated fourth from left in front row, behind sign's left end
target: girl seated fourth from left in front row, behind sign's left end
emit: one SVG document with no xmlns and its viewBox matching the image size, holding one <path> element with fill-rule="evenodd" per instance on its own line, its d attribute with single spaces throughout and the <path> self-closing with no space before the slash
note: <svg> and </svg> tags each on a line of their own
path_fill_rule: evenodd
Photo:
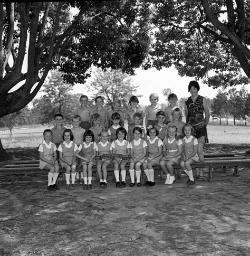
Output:
<svg viewBox="0 0 250 256">
<path fill-rule="evenodd" d="M 107 130 L 101 131 L 101 141 L 97 144 L 97 155 L 111 153 L 111 144 L 108 141 L 109 135 Z M 100 179 L 100 186 L 107 187 L 107 167 L 111 164 L 111 159 L 97 161 L 97 173 Z"/>
</svg>

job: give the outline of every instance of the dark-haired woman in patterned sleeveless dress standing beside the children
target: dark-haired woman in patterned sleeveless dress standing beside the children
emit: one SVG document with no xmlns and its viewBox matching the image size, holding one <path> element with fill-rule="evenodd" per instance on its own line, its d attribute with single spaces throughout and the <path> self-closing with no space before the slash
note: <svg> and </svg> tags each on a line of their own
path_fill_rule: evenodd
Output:
<svg viewBox="0 0 250 256">
<path fill-rule="evenodd" d="M 188 91 L 191 96 L 185 102 L 185 114 L 189 124 L 194 127 L 194 136 L 198 140 L 198 156 L 199 161 L 204 162 L 203 145 L 208 143 L 207 125 L 210 118 L 207 99 L 198 95 L 200 90 L 197 81 L 190 81 Z M 205 118 L 204 118 L 205 113 Z M 205 181 L 203 168 L 196 168 L 194 176 L 198 181 Z"/>
</svg>

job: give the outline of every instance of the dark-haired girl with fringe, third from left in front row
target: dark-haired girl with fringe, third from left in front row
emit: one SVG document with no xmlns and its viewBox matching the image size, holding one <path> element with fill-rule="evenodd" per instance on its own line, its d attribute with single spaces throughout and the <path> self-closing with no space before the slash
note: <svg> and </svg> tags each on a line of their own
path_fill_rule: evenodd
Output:
<svg viewBox="0 0 250 256">
<path fill-rule="evenodd" d="M 97 150 L 97 144 L 94 142 L 94 134 L 91 130 L 85 131 L 83 135 L 83 143 L 78 147 L 75 156 L 80 159 L 80 165 L 83 171 L 83 189 L 92 188 L 92 167 L 94 156 Z M 88 172 L 87 172 L 88 169 Z"/>
</svg>

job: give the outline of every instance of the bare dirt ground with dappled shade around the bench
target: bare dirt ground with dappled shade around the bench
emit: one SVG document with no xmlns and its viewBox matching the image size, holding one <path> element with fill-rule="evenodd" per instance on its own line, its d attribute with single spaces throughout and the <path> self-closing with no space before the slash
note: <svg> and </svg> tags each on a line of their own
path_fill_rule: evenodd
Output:
<svg viewBox="0 0 250 256">
<path fill-rule="evenodd" d="M 9 153 L 34 159 L 36 150 Z M 14 184 L 1 177 L 0 255 L 249 255 L 250 173 L 239 173 L 217 168 L 214 183 L 193 187 L 185 174 L 172 185 L 156 178 L 155 186 L 132 188 L 116 188 L 109 177 L 107 188 L 93 182 L 86 191 L 68 191 L 60 181 L 53 192 L 46 174 Z"/>
</svg>

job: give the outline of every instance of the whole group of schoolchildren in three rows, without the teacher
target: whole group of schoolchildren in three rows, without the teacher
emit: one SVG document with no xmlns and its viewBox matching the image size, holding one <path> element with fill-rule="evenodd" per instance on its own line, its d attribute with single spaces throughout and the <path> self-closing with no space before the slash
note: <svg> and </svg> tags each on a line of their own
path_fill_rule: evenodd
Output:
<svg viewBox="0 0 250 256">
<path fill-rule="evenodd" d="M 154 186 L 153 166 L 156 165 L 160 165 L 166 175 L 165 184 L 173 184 L 176 179 L 173 167 L 175 164 L 180 164 L 188 175 L 187 184 L 194 185 L 190 165 L 199 160 L 198 141 L 193 136 L 194 128 L 181 121 L 182 111 L 177 107 L 176 94 L 169 95 L 170 105 L 164 110 L 157 104 L 156 93 L 150 94 L 149 100 L 151 105 L 143 113 L 138 108 L 138 98 L 132 96 L 129 100 L 130 108 L 123 113 L 120 100 L 115 101 L 113 110 L 108 111 L 103 107 L 103 98 L 98 96 L 95 98 L 96 108 L 91 109 L 88 106 L 88 97 L 82 95 L 81 107 L 76 109 L 72 117 L 71 129 L 66 129 L 62 125 L 63 115 L 56 114 L 55 127 L 44 130 L 44 141 L 39 147 L 40 168 L 49 170 L 47 189 L 59 189 L 56 179 L 60 166 L 65 169 L 68 189 L 75 189 L 79 181 L 83 181 L 83 189 L 91 189 L 93 165 L 97 166 L 100 186 L 107 187 L 107 167 L 111 164 L 114 167 L 116 187 L 126 187 L 127 164 L 131 179 L 130 187 L 135 184 L 138 187 L 142 186 L 142 166 L 147 176 L 143 186 Z M 147 129 L 142 125 L 143 117 Z M 128 131 L 124 128 L 124 120 L 128 122 Z M 96 155 L 107 153 L 128 154 L 130 159 L 95 161 Z M 80 174 L 76 173 L 76 166 L 82 166 Z"/>
</svg>

